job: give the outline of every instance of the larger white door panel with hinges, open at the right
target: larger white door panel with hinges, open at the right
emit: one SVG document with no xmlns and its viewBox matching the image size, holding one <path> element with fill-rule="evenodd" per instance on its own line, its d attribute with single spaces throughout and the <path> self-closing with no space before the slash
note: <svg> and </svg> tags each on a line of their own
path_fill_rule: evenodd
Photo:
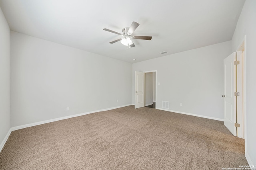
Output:
<svg viewBox="0 0 256 170">
<path fill-rule="evenodd" d="M 224 125 L 236 136 L 236 53 L 224 59 Z"/>
</svg>

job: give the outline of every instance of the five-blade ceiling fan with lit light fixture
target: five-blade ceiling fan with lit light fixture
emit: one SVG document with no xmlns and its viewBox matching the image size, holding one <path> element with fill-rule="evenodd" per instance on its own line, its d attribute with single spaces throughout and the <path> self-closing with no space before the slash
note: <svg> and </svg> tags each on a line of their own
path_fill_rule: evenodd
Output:
<svg viewBox="0 0 256 170">
<path fill-rule="evenodd" d="M 144 39 L 144 40 L 151 40 L 151 36 L 132 36 L 132 33 L 135 31 L 135 29 L 139 26 L 140 24 L 137 22 L 132 22 L 132 25 L 130 27 L 125 27 L 122 29 L 123 34 L 118 33 L 116 31 L 112 31 L 110 29 L 104 28 L 103 30 L 109 31 L 118 35 L 122 35 L 123 37 L 120 39 L 117 39 L 115 41 L 110 42 L 110 44 L 116 43 L 118 41 L 121 41 L 123 45 L 126 45 L 127 47 L 135 47 L 134 43 L 132 42 L 132 39 Z"/>
</svg>

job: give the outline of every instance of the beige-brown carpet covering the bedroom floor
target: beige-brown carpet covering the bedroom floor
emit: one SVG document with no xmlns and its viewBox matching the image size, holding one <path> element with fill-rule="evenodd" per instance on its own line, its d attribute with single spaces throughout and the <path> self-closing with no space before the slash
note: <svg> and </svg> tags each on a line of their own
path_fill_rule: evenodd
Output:
<svg viewBox="0 0 256 170">
<path fill-rule="evenodd" d="M 13 131 L 1 170 L 221 170 L 248 165 L 222 121 L 122 107 Z"/>
</svg>

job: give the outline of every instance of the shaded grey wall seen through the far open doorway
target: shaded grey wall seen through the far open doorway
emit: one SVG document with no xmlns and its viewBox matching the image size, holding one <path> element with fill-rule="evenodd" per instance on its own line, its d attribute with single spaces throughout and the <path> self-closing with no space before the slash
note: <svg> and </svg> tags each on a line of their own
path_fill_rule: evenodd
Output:
<svg viewBox="0 0 256 170">
<path fill-rule="evenodd" d="M 145 106 L 153 104 L 153 75 L 152 72 L 145 73 Z"/>
</svg>

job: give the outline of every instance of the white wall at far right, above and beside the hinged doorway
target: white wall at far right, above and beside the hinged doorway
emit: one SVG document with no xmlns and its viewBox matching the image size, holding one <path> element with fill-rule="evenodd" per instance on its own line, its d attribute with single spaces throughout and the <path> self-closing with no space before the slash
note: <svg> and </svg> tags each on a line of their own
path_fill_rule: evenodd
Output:
<svg viewBox="0 0 256 170">
<path fill-rule="evenodd" d="M 232 37 L 236 51 L 246 35 L 246 158 L 256 165 L 256 0 L 246 0 Z"/>
</svg>

